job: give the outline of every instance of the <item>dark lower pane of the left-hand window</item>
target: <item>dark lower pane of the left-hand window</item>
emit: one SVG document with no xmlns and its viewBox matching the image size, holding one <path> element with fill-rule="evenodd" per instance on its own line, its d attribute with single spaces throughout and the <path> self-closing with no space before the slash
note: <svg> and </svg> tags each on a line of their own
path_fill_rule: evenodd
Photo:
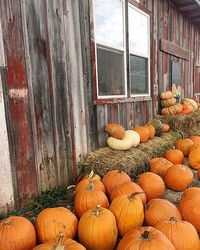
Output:
<svg viewBox="0 0 200 250">
<path fill-rule="evenodd" d="M 124 52 L 97 47 L 99 96 L 125 95 Z"/>
</svg>

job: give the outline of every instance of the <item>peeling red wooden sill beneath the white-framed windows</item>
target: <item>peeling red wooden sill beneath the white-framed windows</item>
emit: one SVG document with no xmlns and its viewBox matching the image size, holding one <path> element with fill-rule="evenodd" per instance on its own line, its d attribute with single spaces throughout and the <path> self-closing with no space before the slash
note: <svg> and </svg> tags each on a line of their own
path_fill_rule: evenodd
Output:
<svg viewBox="0 0 200 250">
<path fill-rule="evenodd" d="M 112 99 L 97 99 L 94 101 L 95 105 L 103 104 L 116 104 L 116 103 L 131 103 L 131 102 L 144 102 L 152 101 L 151 96 L 135 96 L 129 98 L 112 98 Z"/>
</svg>

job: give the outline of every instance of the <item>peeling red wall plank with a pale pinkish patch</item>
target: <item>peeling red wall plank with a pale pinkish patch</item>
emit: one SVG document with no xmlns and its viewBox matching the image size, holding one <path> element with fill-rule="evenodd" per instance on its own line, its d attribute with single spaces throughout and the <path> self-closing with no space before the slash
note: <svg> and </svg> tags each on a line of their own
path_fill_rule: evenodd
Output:
<svg viewBox="0 0 200 250">
<path fill-rule="evenodd" d="M 12 128 L 11 162 L 15 166 L 21 206 L 37 194 L 30 107 L 24 60 L 20 1 L 1 1 L 2 30 L 7 58 L 7 88 Z"/>
</svg>

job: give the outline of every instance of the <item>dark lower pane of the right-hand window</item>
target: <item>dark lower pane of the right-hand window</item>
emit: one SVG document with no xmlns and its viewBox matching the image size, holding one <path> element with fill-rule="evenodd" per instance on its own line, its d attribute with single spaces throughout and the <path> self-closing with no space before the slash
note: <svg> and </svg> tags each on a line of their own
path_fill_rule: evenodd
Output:
<svg viewBox="0 0 200 250">
<path fill-rule="evenodd" d="M 130 55 L 131 94 L 148 94 L 148 59 Z"/>
</svg>

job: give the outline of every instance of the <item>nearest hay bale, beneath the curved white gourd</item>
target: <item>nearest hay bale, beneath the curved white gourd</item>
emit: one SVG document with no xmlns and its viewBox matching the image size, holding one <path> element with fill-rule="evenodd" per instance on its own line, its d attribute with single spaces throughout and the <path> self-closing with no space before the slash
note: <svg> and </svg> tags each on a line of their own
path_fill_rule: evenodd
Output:
<svg viewBox="0 0 200 250">
<path fill-rule="evenodd" d="M 177 136 L 180 135 L 166 133 L 126 151 L 112 150 L 109 147 L 100 148 L 84 155 L 81 171 L 87 174 L 93 170 L 104 176 L 113 169 L 124 170 L 134 180 L 138 174 L 149 170 L 151 158 L 160 157 L 166 149 L 173 147 Z"/>
</svg>

